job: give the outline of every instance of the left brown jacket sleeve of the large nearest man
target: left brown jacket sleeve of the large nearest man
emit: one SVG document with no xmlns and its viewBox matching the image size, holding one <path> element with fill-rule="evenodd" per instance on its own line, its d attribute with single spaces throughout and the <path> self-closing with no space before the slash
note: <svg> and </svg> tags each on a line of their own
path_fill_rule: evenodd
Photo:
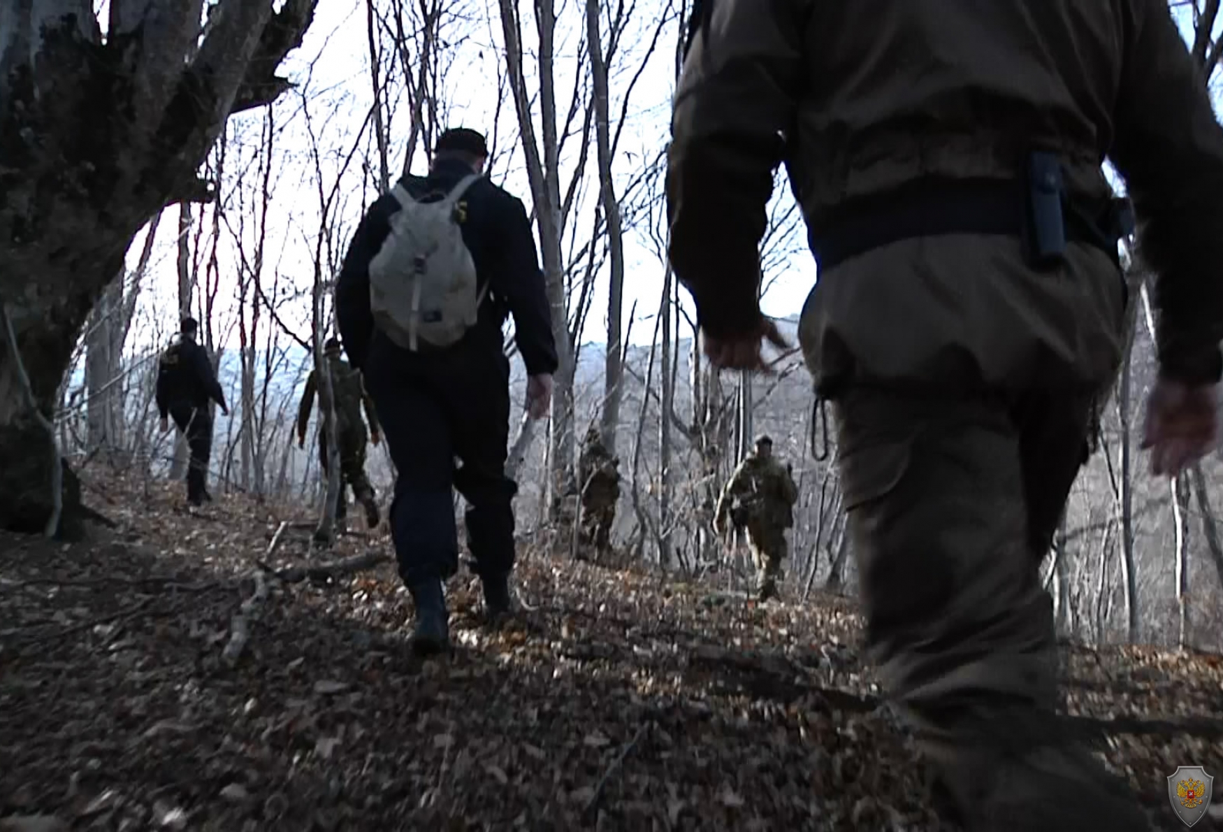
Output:
<svg viewBox="0 0 1223 832">
<path fill-rule="evenodd" d="M 709 0 L 706 0 L 708 2 Z M 667 160 L 669 254 L 697 323 L 726 338 L 759 321 L 759 241 L 793 132 L 806 0 L 718 0 L 684 61 Z"/>
</svg>

